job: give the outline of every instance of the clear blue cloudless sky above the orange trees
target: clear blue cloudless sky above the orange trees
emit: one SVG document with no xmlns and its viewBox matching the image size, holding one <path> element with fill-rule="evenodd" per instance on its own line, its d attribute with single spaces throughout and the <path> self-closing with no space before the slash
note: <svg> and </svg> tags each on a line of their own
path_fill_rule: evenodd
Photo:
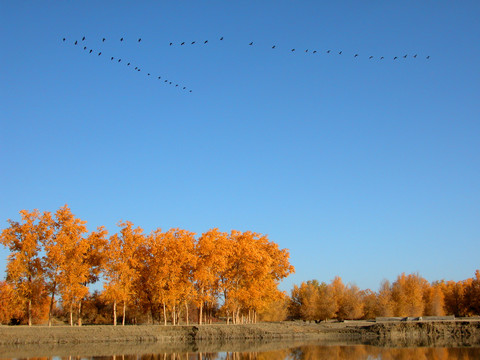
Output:
<svg viewBox="0 0 480 360">
<path fill-rule="evenodd" d="M 290 249 L 284 289 L 471 277 L 479 19 L 477 0 L 1 1 L 0 228 L 68 204 L 110 233 L 252 230 Z"/>
</svg>

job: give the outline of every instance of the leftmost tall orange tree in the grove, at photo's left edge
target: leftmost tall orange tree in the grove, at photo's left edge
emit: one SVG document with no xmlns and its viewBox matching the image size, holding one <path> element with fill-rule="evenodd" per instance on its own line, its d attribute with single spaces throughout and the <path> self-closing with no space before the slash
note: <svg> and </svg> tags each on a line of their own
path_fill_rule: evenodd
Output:
<svg viewBox="0 0 480 360">
<path fill-rule="evenodd" d="M 0 243 L 8 247 L 7 282 L 16 299 L 26 307 L 27 323 L 32 325 L 32 307 L 43 296 L 44 277 L 40 258 L 45 224 L 38 210 L 20 211 L 21 221 L 8 220 L 10 226 L 0 234 Z"/>
</svg>

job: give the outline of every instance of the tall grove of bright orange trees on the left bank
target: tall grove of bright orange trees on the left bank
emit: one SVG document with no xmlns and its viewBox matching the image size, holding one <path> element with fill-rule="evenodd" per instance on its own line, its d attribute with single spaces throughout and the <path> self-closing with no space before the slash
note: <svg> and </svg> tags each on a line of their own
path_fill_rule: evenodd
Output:
<svg viewBox="0 0 480 360">
<path fill-rule="evenodd" d="M 278 284 L 294 271 L 287 249 L 251 231 L 145 234 L 125 221 L 108 236 L 88 232 L 67 205 L 20 215 L 0 234 L 10 250 L 0 323 L 253 323 L 287 297 Z M 90 294 L 99 280 L 103 291 Z"/>
</svg>

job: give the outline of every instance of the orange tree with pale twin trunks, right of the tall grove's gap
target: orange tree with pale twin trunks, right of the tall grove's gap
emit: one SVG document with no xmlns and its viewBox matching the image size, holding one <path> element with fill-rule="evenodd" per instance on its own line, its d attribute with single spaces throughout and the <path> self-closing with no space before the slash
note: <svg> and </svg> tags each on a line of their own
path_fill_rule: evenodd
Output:
<svg viewBox="0 0 480 360">
<path fill-rule="evenodd" d="M 113 324 L 117 325 L 117 304 L 122 304 L 122 325 L 125 325 L 126 307 L 138 289 L 138 250 L 145 241 L 143 230 L 129 221 L 118 224 L 120 231 L 110 237 L 105 246 L 104 296 L 113 304 Z"/>
</svg>

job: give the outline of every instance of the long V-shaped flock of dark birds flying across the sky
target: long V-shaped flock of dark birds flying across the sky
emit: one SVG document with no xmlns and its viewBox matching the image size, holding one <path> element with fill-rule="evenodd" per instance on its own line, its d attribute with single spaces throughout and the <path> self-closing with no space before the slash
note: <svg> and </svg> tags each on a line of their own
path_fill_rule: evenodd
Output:
<svg viewBox="0 0 480 360">
<path fill-rule="evenodd" d="M 105 37 L 102 37 L 101 39 L 101 42 L 102 43 L 105 43 L 106 41 L 108 41 L 109 39 L 105 38 Z M 83 36 L 81 38 L 81 40 L 73 40 L 73 41 L 68 41 L 67 38 L 63 38 L 62 41 L 64 43 L 73 43 L 75 46 L 79 45 L 80 43 L 86 43 L 86 37 Z M 125 38 L 125 37 L 120 37 L 118 39 L 114 39 L 113 41 L 118 41 L 119 43 L 126 43 L 128 42 L 128 39 Z M 224 41 L 224 37 L 221 36 L 219 38 L 216 38 L 214 40 L 210 40 L 207 39 L 207 40 L 190 40 L 190 41 L 180 41 L 180 42 L 169 42 L 168 43 L 168 46 L 208 46 L 209 44 L 211 44 L 212 42 L 214 41 L 218 41 L 218 42 L 223 42 Z M 137 44 L 141 44 L 142 43 L 142 38 L 136 38 L 133 40 L 133 42 L 137 43 Z M 250 42 L 246 42 L 245 43 L 246 46 L 251 46 L 251 47 L 257 47 L 258 45 L 255 44 L 254 41 L 250 41 Z M 258 46 L 259 47 L 259 46 Z M 370 61 L 373 61 L 373 60 L 379 60 L 379 61 L 383 61 L 383 60 L 387 60 L 387 59 L 391 59 L 393 61 L 397 61 L 397 60 L 407 60 L 407 59 L 420 59 L 420 58 L 424 58 L 426 60 L 429 60 L 430 59 L 430 55 L 424 55 L 424 56 L 420 56 L 418 54 L 404 54 L 404 55 L 397 55 L 397 56 L 393 56 L 393 57 L 386 57 L 386 56 L 375 56 L 375 55 L 371 55 L 371 54 L 365 54 L 365 55 L 360 55 L 359 53 L 355 53 L 355 52 L 352 52 L 350 55 L 345 52 L 344 50 L 331 50 L 331 49 L 320 49 L 320 48 L 316 48 L 316 49 L 299 49 L 297 50 L 297 48 L 291 48 L 291 47 L 281 47 L 281 46 L 278 46 L 277 44 L 271 44 L 268 46 L 269 49 L 273 50 L 273 51 L 276 51 L 276 52 L 282 52 L 284 51 L 285 53 L 294 53 L 294 54 L 297 54 L 297 53 L 304 53 L 304 54 L 307 54 L 307 55 L 321 55 L 321 54 L 324 54 L 326 56 L 351 56 L 353 59 L 359 59 L 359 58 L 366 58 Z M 99 50 L 94 50 L 94 49 L 89 49 L 87 46 L 83 46 L 83 50 L 85 52 L 87 52 L 88 54 L 92 54 L 92 53 L 95 53 L 97 54 L 97 56 L 102 56 L 102 51 L 99 51 Z M 88 50 L 88 51 L 87 51 Z M 104 55 L 105 56 L 105 55 Z M 107 57 L 108 58 L 108 57 Z M 114 61 L 115 60 L 115 61 Z M 110 61 L 111 62 L 116 62 L 116 63 L 122 63 L 122 59 L 121 58 L 115 58 L 114 56 L 110 56 Z M 123 62 L 122 64 L 125 64 L 126 67 L 128 68 L 131 68 L 133 71 L 136 71 L 136 72 L 142 72 L 142 69 L 140 66 L 134 66 L 133 63 L 131 62 Z M 145 74 L 145 76 L 147 77 L 151 77 L 152 79 L 156 79 L 156 80 L 163 80 L 163 84 L 167 84 L 167 85 L 173 85 L 174 87 L 178 87 L 179 89 L 181 90 L 184 90 L 186 92 L 189 92 L 191 93 L 192 90 L 187 88 L 186 86 L 182 86 L 180 84 L 177 84 L 173 81 L 170 81 L 168 79 L 165 79 L 164 76 L 162 75 L 159 75 L 159 74 L 155 74 L 153 75 L 153 72 L 143 72 Z"/>
</svg>

